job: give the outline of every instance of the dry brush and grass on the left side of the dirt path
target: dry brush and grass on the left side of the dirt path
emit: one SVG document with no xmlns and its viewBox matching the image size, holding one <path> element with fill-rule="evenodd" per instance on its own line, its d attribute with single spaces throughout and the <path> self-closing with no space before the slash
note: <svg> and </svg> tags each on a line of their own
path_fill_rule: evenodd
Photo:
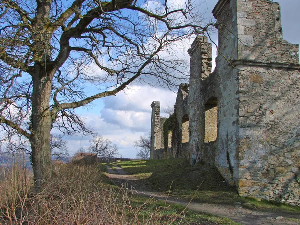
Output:
<svg viewBox="0 0 300 225">
<path fill-rule="evenodd" d="M 32 172 L 13 166 L 0 180 L 0 224 L 236 224 L 180 205 L 134 196 L 127 188 L 107 184 L 102 169 L 57 164 L 52 180 L 36 194 Z"/>
</svg>

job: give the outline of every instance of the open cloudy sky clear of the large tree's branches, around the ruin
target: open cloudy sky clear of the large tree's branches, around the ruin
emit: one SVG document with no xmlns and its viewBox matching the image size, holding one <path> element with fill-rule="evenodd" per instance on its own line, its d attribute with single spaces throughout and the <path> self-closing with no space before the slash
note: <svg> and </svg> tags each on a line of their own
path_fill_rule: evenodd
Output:
<svg viewBox="0 0 300 225">
<path fill-rule="evenodd" d="M 178 2 L 183 0 L 178 0 Z M 207 20 L 213 19 L 211 11 L 218 0 L 205 0 L 199 10 L 206 12 Z M 300 0 L 274 0 L 281 6 L 281 21 L 283 38 L 290 43 L 300 44 Z M 214 35 L 215 40 L 217 39 Z M 186 49 L 178 52 L 182 57 L 189 58 L 187 50 L 193 40 L 186 44 Z M 216 56 L 216 48 L 213 48 L 213 56 Z M 149 85 L 135 83 L 125 91 L 116 96 L 109 96 L 98 99 L 87 107 L 76 110 L 87 126 L 116 144 L 119 154 L 123 158 L 135 158 L 137 149 L 134 148 L 134 141 L 141 135 L 148 135 L 151 128 L 151 103 L 160 101 L 161 116 L 168 105 L 174 105 L 176 93 L 166 88 L 154 88 Z M 81 147 L 88 147 L 92 137 L 77 134 L 65 136 L 70 154 L 74 154 Z"/>
</svg>

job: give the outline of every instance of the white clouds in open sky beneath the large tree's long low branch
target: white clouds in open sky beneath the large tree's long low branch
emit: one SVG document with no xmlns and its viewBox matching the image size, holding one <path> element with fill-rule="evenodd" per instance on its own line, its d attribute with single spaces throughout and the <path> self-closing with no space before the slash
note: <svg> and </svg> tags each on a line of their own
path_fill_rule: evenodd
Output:
<svg viewBox="0 0 300 225">
<path fill-rule="evenodd" d="M 161 108 L 175 103 L 176 94 L 168 89 L 134 85 L 113 97 L 104 98 L 104 108 L 97 113 L 84 114 L 87 126 L 116 144 L 122 157 L 135 158 L 134 141 L 150 132 L 151 103 L 160 101 Z M 162 113 L 161 113 L 162 114 Z M 68 148 L 75 153 L 88 147 L 92 137 L 69 136 Z"/>
</svg>

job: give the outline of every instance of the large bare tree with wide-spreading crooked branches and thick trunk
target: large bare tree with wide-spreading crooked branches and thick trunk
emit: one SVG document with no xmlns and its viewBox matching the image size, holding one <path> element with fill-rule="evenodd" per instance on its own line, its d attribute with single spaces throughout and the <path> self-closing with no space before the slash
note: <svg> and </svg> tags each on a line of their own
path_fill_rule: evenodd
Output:
<svg viewBox="0 0 300 225">
<path fill-rule="evenodd" d="M 190 1 L 152 3 L 0 1 L 0 124 L 29 139 L 37 191 L 52 174 L 51 129 L 87 131 L 75 108 L 134 81 L 171 87 L 186 78 L 174 43 L 212 24 L 201 27 Z"/>
</svg>

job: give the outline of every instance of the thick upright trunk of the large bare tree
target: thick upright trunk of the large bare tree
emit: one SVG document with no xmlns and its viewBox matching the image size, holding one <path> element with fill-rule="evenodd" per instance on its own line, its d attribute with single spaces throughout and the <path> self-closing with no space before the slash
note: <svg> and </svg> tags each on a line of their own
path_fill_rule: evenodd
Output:
<svg viewBox="0 0 300 225">
<path fill-rule="evenodd" d="M 46 29 L 50 22 L 50 8 L 52 0 L 36 1 L 37 12 L 33 29 L 34 43 L 32 44 L 34 69 L 32 90 L 31 114 L 31 149 L 32 167 L 34 173 L 34 188 L 39 192 L 43 185 L 52 176 L 51 160 L 51 127 L 52 119 L 49 108 L 51 97 L 52 77 L 54 71 L 50 70 L 51 62 L 51 36 L 52 32 Z"/>
</svg>

